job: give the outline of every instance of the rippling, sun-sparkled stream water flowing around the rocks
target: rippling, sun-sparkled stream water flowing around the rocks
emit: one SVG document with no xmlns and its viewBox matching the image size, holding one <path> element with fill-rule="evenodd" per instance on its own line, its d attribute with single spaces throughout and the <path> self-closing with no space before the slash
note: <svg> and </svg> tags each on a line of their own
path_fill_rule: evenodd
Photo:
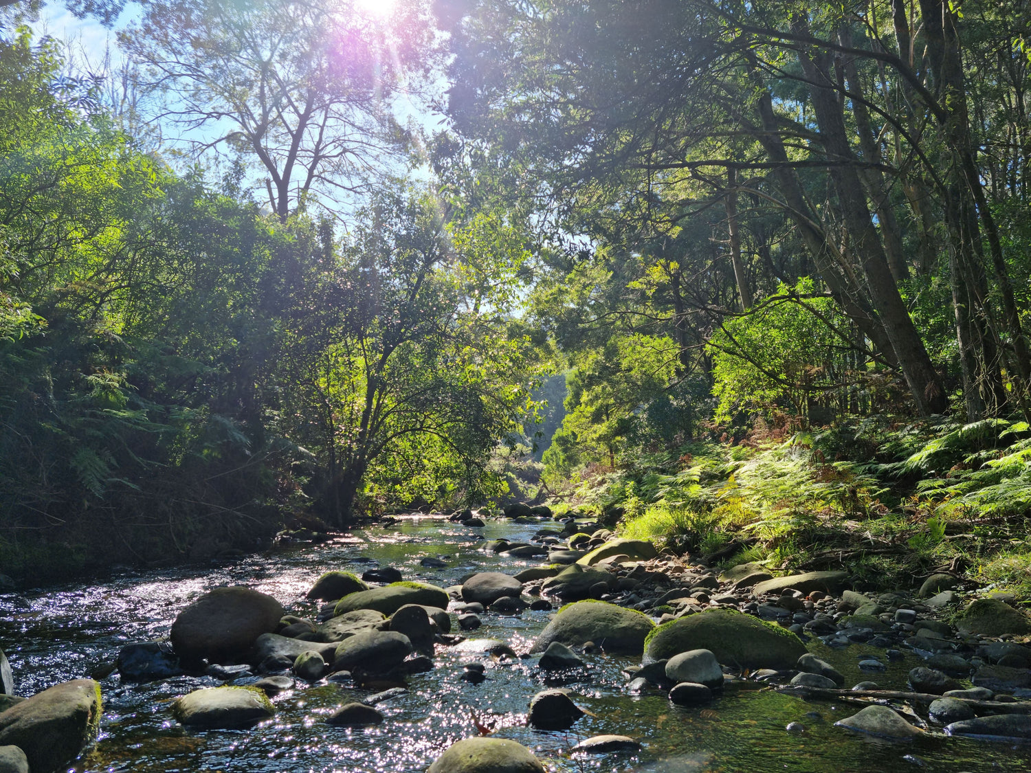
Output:
<svg viewBox="0 0 1031 773">
<path fill-rule="evenodd" d="M 94 584 L 64 585 L 0 595 L 0 647 L 7 653 L 20 695 L 59 681 L 80 678 L 114 659 L 126 642 L 163 638 L 175 614 L 206 591 L 226 584 L 248 585 L 277 598 L 288 611 L 313 616 L 317 604 L 304 594 L 325 571 L 361 574 L 369 566 L 396 566 L 405 579 L 441 586 L 477 571 L 514 573 L 534 562 L 483 551 L 485 539 L 529 540 L 539 527 L 488 522 L 484 528 L 430 517 L 403 518 L 390 530 L 356 531 L 322 545 L 297 546 L 218 565 L 149 572 L 125 572 Z M 445 569 L 420 565 L 442 558 Z M 481 615 L 484 627 L 470 638 L 499 638 L 526 652 L 551 612 L 525 611 L 518 617 Z M 920 665 L 906 654 L 874 677 L 860 672 L 861 656 L 872 647 L 854 645 L 810 649 L 830 661 L 849 683 L 873 678 L 885 687 L 902 687 L 905 674 Z M 883 651 L 880 652 L 883 654 Z M 377 705 L 383 725 L 341 729 L 322 720 L 335 708 L 371 691 L 336 683 L 307 686 L 273 699 L 276 716 L 246 731 L 196 732 L 171 717 L 176 697 L 221 682 L 211 677 L 177 677 L 145 684 L 122 683 L 118 674 L 102 681 L 104 714 L 96 745 L 76 771 L 172 773 L 386 773 L 425 771 L 452 742 L 475 735 L 473 719 L 493 724 L 498 737 L 529 746 L 557 771 L 1027 771 L 1031 747 L 964 741 L 928 734 L 898 744 L 854 736 L 833 724 L 856 707 L 806 703 L 737 682 L 700 708 L 680 708 L 659 693 L 630 696 L 622 670 L 635 659 L 587 656 L 590 678 L 566 684 L 588 715 L 565 732 L 525 727 L 530 698 L 545 686 L 536 659 L 488 659 L 488 679 L 461 680 L 470 657 L 437 646 L 435 668 L 409 679 L 409 692 Z M 250 679 L 253 681 L 254 679 Z M 247 679 L 241 680 L 245 683 Z M 805 732 L 785 727 L 801 722 Z M 640 740 L 641 751 L 589 758 L 570 755 L 581 739 L 605 733 Z"/>
</svg>

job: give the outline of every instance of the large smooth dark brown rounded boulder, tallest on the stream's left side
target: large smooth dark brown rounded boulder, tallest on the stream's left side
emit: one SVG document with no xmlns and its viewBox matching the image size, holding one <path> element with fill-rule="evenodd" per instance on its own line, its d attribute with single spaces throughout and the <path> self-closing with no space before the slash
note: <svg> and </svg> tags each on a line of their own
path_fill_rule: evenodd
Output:
<svg viewBox="0 0 1031 773">
<path fill-rule="evenodd" d="M 250 587 L 217 587 L 188 606 L 172 623 L 172 647 L 186 664 L 241 661 L 262 634 L 272 633 L 282 606 Z"/>
</svg>

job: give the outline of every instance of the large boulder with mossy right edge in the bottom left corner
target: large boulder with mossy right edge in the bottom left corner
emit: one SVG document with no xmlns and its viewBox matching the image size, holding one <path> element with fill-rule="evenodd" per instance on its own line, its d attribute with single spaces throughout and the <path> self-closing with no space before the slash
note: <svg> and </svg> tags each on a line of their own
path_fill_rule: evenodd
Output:
<svg viewBox="0 0 1031 773">
<path fill-rule="evenodd" d="M 33 773 L 67 768 L 100 725 L 100 684 L 55 684 L 0 714 L 0 746 L 18 746 Z"/>
</svg>

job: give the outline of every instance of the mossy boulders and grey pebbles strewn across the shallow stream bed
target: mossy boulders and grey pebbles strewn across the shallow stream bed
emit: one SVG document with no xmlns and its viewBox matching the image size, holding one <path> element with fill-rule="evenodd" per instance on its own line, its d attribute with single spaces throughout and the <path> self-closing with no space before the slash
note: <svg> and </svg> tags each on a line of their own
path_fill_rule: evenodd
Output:
<svg viewBox="0 0 1031 773">
<path fill-rule="evenodd" d="M 333 684 L 364 696 L 308 721 L 389 728 L 385 707 L 405 696 L 417 675 L 458 663 L 462 682 L 489 691 L 491 671 L 508 662 L 537 670 L 550 687 L 523 696 L 520 721 L 554 732 L 590 718 L 604 733 L 578 738 L 569 753 L 632 754 L 654 739 L 627 735 L 618 720 L 606 724 L 585 699 L 599 662 L 629 658 L 625 694 L 664 697 L 683 710 L 719 707 L 737 685 L 751 685 L 854 707 L 836 721 L 841 734 L 900 743 L 1031 740 L 1031 648 L 1024 643 L 1031 623 L 1012 599 L 954 590 L 949 575 L 871 597 L 850 590 L 841 572 L 772 577 L 743 565 L 721 573 L 583 522 L 553 526 L 546 513 L 514 515 L 540 528 L 525 542 L 485 541 L 480 550 L 499 563 L 539 558 L 539 566 L 472 572 L 448 586 L 406 581 L 388 566 L 361 575 L 331 571 L 310 586 L 304 609 L 252 589 L 211 589 L 176 612 L 168 640 L 122 646 L 107 669 L 93 674 L 99 681 L 4 699 L 14 705 L 0 713 L 0 745 L 7 747 L 0 771 L 46 773 L 70 764 L 96 733 L 106 671 L 128 690 L 179 674 L 223 682 L 184 692 L 162 709 L 188 734 L 261 733 L 275 720 L 281 696 Z M 475 517 L 459 513 L 456 520 Z M 434 561 L 446 564 L 428 557 L 422 565 Z M 476 636 L 492 618 L 563 604 L 532 641 L 513 646 Z M 865 653 L 858 667 L 868 677 L 854 684 L 809 651 L 854 646 Z M 913 658 L 922 665 L 909 670 L 905 690 L 882 688 L 878 676 Z M 0 668 L 0 675 L 4 694 L 15 693 L 19 674 Z M 440 749 L 431 770 L 541 770 L 548 762 L 492 737 L 479 719 L 473 728 L 483 737 Z M 807 732 L 804 721 L 784 728 Z"/>
</svg>

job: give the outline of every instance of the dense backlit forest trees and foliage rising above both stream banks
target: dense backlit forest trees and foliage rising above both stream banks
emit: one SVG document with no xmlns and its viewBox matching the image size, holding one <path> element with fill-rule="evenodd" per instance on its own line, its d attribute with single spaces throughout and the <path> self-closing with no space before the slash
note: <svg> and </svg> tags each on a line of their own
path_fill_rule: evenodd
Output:
<svg viewBox="0 0 1031 773">
<path fill-rule="evenodd" d="M 1031 423 L 1025 0 L 68 7 L 118 56 L 0 8 L 9 571 Z"/>
</svg>

